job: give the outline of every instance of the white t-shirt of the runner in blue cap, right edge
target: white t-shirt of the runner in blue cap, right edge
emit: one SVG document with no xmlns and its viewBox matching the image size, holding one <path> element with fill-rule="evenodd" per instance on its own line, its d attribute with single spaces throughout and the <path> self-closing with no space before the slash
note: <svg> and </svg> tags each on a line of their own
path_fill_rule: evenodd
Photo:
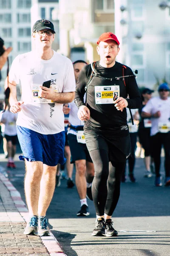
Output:
<svg viewBox="0 0 170 256">
<path fill-rule="evenodd" d="M 147 102 L 144 108 L 142 108 L 142 112 L 150 113 L 152 115 L 157 111 L 161 112 L 161 116 L 157 118 L 151 117 L 151 136 L 159 132 L 159 124 L 168 125 L 170 122 L 170 97 L 168 97 L 166 100 L 163 100 L 160 97 L 154 97 Z"/>
</svg>

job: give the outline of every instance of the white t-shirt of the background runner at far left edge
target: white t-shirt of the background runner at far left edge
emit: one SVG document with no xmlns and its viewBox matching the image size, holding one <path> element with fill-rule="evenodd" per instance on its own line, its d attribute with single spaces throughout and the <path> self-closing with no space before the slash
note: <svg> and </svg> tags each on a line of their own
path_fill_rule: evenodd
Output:
<svg viewBox="0 0 170 256">
<path fill-rule="evenodd" d="M 3 122 L 4 124 L 4 131 L 3 131 L 4 134 L 8 136 L 17 135 L 16 121 L 17 121 L 17 113 L 14 114 L 9 110 L 6 110 L 5 112 L 0 113 L 0 122 Z"/>
</svg>

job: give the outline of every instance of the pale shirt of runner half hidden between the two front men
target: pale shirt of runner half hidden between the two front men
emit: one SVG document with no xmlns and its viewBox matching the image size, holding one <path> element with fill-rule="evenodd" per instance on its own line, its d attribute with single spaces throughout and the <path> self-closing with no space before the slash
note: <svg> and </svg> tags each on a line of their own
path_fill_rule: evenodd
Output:
<svg viewBox="0 0 170 256">
<path fill-rule="evenodd" d="M 69 107 L 71 108 L 71 110 L 69 113 L 68 122 L 73 126 L 78 126 L 78 125 L 84 126 L 84 122 L 80 121 L 80 119 L 77 116 L 77 112 L 79 109 L 77 108 L 77 105 L 74 103 L 74 101 L 69 103 Z M 74 134 L 74 135 L 77 134 L 77 132 L 74 131 L 73 129 L 70 129 L 67 134 L 69 134 L 69 133 Z"/>
</svg>

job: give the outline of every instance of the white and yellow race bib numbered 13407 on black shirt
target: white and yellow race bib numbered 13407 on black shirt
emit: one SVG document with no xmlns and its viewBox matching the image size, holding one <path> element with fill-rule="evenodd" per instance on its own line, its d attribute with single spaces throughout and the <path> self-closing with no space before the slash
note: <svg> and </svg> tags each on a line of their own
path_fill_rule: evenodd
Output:
<svg viewBox="0 0 170 256">
<path fill-rule="evenodd" d="M 113 98 L 120 96 L 119 85 L 95 86 L 96 104 L 113 104 Z"/>
</svg>

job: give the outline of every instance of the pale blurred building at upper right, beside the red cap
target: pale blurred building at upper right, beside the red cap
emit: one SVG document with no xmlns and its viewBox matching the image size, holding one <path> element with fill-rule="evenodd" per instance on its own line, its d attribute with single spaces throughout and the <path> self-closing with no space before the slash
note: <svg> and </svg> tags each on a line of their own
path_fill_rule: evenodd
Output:
<svg viewBox="0 0 170 256">
<path fill-rule="evenodd" d="M 118 59 L 139 71 L 140 87 L 156 89 L 158 80 L 170 82 L 170 7 L 161 9 L 161 2 L 115 1 L 115 34 L 121 41 Z"/>
</svg>

